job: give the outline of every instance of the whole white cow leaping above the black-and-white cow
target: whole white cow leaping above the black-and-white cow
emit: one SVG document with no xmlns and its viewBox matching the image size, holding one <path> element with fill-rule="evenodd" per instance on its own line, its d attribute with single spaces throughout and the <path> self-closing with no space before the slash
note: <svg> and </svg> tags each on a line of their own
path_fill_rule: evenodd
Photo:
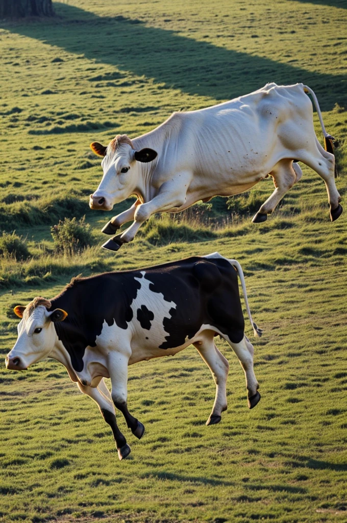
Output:
<svg viewBox="0 0 347 523">
<path fill-rule="evenodd" d="M 342 213 L 334 180 L 334 155 L 323 149 L 313 126 L 314 99 L 325 137 L 332 151 L 317 98 L 303 84 L 263 88 L 198 111 L 175 112 L 159 127 L 130 140 L 118 135 L 109 145 L 94 142 L 91 149 L 104 156 L 103 177 L 90 195 L 91 209 L 111 210 L 115 203 L 136 195 L 133 206 L 112 218 L 102 232 L 114 234 L 105 245 L 117 251 L 133 240 L 141 224 L 155 212 L 179 212 L 198 200 L 230 196 L 250 189 L 268 174 L 275 190 L 253 217 L 267 219 L 285 193 L 302 176 L 300 161 L 325 181 L 331 220 Z"/>
</svg>

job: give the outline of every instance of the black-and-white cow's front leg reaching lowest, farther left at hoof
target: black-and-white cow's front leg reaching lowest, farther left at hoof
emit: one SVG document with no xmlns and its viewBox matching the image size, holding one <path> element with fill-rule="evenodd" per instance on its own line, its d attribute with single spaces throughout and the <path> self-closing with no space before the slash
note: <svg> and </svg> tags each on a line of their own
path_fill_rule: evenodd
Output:
<svg viewBox="0 0 347 523">
<path fill-rule="evenodd" d="M 115 445 L 117 446 L 119 459 L 122 460 L 123 458 L 126 458 L 126 456 L 129 456 L 130 447 L 126 443 L 126 439 L 118 428 L 113 404 L 109 397 L 107 397 L 107 394 L 102 392 L 103 387 L 106 387 L 105 383 L 100 382 L 98 387 L 90 387 L 82 385 L 82 383 L 78 381 L 77 386 L 79 390 L 83 392 L 83 394 L 87 394 L 98 404 L 103 419 L 105 419 L 106 423 L 108 423 L 111 427 Z"/>
</svg>

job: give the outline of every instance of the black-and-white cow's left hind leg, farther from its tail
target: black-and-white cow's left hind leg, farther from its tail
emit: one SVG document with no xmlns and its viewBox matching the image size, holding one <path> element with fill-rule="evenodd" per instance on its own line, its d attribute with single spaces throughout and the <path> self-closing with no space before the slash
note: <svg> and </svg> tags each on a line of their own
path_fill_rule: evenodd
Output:
<svg viewBox="0 0 347 523">
<path fill-rule="evenodd" d="M 222 412 L 227 409 L 226 399 L 226 380 L 228 377 L 229 363 L 214 344 L 214 333 L 211 331 L 210 336 L 205 336 L 194 347 L 211 370 L 214 382 L 216 384 L 216 396 L 206 425 L 214 425 L 222 419 Z"/>
</svg>

